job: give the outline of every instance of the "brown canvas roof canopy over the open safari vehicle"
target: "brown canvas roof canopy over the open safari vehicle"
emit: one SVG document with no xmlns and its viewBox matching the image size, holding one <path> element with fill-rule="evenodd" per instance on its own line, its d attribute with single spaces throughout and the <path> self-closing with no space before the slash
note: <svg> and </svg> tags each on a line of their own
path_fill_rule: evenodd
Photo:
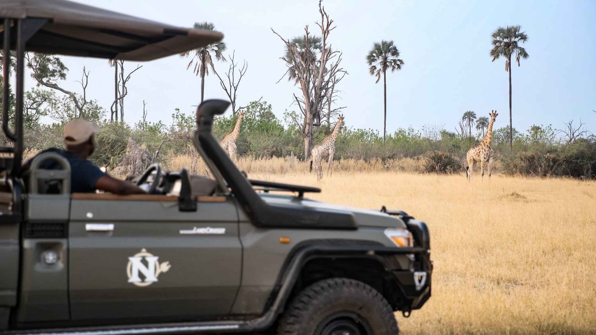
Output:
<svg viewBox="0 0 596 335">
<path fill-rule="evenodd" d="M 170 26 L 66 0 L 0 0 L 0 18 L 38 22 L 41 29 L 27 41 L 26 50 L 49 54 L 148 61 L 224 38 L 218 32 Z M 14 32 L 11 29 L 13 41 Z"/>
</svg>

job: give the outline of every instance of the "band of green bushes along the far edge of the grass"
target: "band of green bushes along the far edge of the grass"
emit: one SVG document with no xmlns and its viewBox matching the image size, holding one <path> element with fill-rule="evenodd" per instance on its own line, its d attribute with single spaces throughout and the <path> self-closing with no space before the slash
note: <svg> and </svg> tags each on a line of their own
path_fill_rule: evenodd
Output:
<svg viewBox="0 0 596 335">
<path fill-rule="evenodd" d="M 219 117 L 213 131 L 222 138 L 231 131 L 236 116 Z M 238 138 L 238 155 L 254 159 L 285 157 L 294 152 L 303 157 L 303 138 L 294 123 L 293 112 L 286 112 L 284 120 L 278 119 L 270 104 L 260 102 L 244 110 L 244 121 Z M 420 158 L 434 163 L 429 172 L 458 172 L 465 168 L 464 157 L 468 149 L 479 141 L 476 137 L 463 136 L 436 126 L 416 130 L 397 129 L 383 135 L 373 129 L 358 129 L 349 126 L 342 129 L 336 142 L 336 159 L 367 161 L 392 160 L 403 157 Z M 122 160 L 128 138 L 133 138 L 148 151 L 154 153 L 161 145 L 157 162 L 167 163 L 180 154 L 193 154 L 190 135 L 194 131 L 194 115 L 175 110 L 169 122 L 138 122 L 128 125 L 119 122 L 100 122 L 97 135 L 98 150 L 92 159 L 99 165 L 114 167 Z M 322 124 L 315 128 L 315 144 L 333 128 Z M 26 131 L 26 147 L 29 150 L 43 150 L 47 147 L 62 147 L 62 123 L 44 125 L 36 123 Z M 573 137 L 564 130 L 557 131 L 550 125 L 532 126 L 526 132 L 513 129 L 513 150 L 509 148 L 509 128 L 493 132 L 495 159 L 500 160 L 504 173 L 530 176 L 573 176 L 592 178 L 596 171 L 596 140 L 593 135 L 583 133 Z M 437 160 L 437 162 L 434 162 Z M 449 162 L 443 170 L 442 162 Z M 439 167 L 437 167 L 437 165 Z"/>
</svg>

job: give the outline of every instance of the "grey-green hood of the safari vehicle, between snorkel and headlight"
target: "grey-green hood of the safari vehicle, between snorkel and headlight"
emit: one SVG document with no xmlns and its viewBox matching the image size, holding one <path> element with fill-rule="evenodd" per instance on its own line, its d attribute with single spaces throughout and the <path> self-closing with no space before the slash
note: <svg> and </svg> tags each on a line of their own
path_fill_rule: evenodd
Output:
<svg viewBox="0 0 596 335">
<path fill-rule="evenodd" d="M 279 194 L 259 194 L 268 204 L 282 206 L 296 206 L 302 209 L 331 210 L 333 212 L 349 212 L 354 215 L 359 227 L 381 227 L 381 228 L 406 228 L 405 223 L 396 216 L 391 216 L 380 210 L 361 209 L 356 207 L 340 206 L 336 204 L 323 203 L 309 198 L 294 196 L 283 196 Z"/>
</svg>

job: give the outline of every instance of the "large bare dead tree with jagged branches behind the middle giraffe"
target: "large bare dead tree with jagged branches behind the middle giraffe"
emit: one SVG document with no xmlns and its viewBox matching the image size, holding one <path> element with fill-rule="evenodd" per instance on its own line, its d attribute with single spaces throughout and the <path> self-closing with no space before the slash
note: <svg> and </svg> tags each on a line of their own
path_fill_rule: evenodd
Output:
<svg viewBox="0 0 596 335">
<path fill-rule="evenodd" d="M 294 79 L 300 85 L 301 96 L 294 94 L 294 103 L 304 116 L 303 122 L 294 122 L 300 129 L 304 141 L 304 157 L 311 156 L 312 129 L 321 124 L 321 112 L 329 91 L 343 79 L 347 72 L 340 67 L 342 52 L 333 50 L 328 42 L 329 35 L 335 26 L 319 0 L 321 21 L 316 25 L 321 29 L 321 38 L 311 36 L 308 25 L 305 35 L 300 38 L 284 39 L 271 29 L 284 42 L 287 52 L 281 60 L 285 61 L 287 70 L 284 76 Z M 316 44 L 316 46 L 315 46 Z M 283 76 L 283 77 L 284 77 Z M 281 79 L 280 79 L 281 80 Z M 333 97 L 333 94 L 331 94 Z"/>
</svg>

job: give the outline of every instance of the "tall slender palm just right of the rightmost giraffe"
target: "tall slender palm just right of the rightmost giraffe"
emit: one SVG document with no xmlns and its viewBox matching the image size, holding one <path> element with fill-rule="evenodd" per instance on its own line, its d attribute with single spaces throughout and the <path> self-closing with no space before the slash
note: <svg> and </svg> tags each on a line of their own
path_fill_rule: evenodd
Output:
<svg viewBox="0 0 596 335">
<path fill-rule="evenodd" d="M 526 49 L 522 48 L 520 44 L 527 41 L 525 32 L 521 32 L 522 26 L 507 26 L 505 28 L 498 27 L 492 33 L 492 61 L 499 57 L 505 57 L 505 71 L 509 72 L 509 147 L 513 150 L 513 122 L 511 120 L 511 56 L 515 55 L 517 66 L 520 66 L 520 59 L 527 59 L 529 55 Z"/>
</svg>

